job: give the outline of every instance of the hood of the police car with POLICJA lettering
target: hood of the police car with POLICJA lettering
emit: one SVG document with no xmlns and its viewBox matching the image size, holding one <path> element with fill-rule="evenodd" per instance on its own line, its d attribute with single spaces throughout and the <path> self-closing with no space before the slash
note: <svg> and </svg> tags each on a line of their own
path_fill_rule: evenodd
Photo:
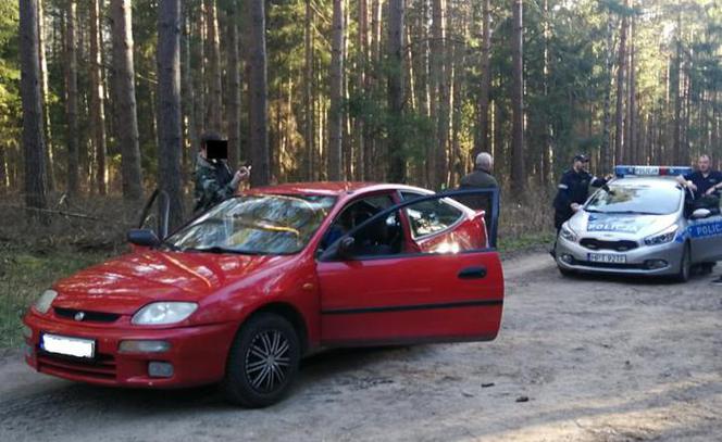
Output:
<svg viewBox="0 0 722 442">
<path fill-rule="evenodd" d="M 638 240 L 667 229 L 676 219 L 676 214 L 605 214 L 580 211 L 569 220 L 569 226 L 580 237 Z"/>
</svg>

